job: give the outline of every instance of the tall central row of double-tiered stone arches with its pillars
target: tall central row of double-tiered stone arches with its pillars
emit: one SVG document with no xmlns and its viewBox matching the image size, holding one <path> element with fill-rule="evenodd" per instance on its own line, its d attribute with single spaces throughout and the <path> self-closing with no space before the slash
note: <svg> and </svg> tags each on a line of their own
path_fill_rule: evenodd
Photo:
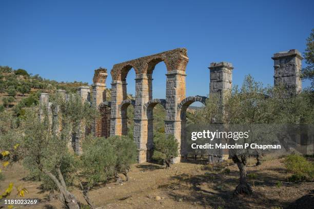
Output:
<svg viewBox="0 0 314 209">
<path fill-rule="evenodd" d="M 152 74 L 160 62 L 166 66 L 166 95 L 158 99 L 152 96 Z M 184 137 L 186 110 L 191 103 L 205 104 L 204 97 L 186 97 L 185 70 L 188 62 L 186 49 L 175 49 L 116 64 L 111 70 L 111 135 L 130 135 L 128 123 L 133 120 L 133 139 L 139 150 L 139 162 L 150 158 L 153 148 L 153 109 L 165 111 L 163 123 L 165 134 L 173 134 L 181 144 Z M 127 94 L 127 76 L 135 72 L 135 98 Z M 128 118 L 128 107 L 133 107 L 134 118 Z M 180 150 L 182 150 L 180 145 Z M 181 152 L 180 152 L 181 153 Z"/>
</svg>

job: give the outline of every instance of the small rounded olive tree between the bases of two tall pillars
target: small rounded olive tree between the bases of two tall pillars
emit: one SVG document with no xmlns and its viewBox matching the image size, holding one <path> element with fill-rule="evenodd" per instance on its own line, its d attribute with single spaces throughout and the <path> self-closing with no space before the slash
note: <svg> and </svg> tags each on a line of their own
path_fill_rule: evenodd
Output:
<svg viewBox="0 0 314 209">
<path fill-rule="evenodd" d="M 179 143 L 173 135 L 158 134 L 154 137 L 154 160 L 163 160 L 166 164 L 166 169 L 170 168 L 171 159 L 178 157 Z"/>
</svg>

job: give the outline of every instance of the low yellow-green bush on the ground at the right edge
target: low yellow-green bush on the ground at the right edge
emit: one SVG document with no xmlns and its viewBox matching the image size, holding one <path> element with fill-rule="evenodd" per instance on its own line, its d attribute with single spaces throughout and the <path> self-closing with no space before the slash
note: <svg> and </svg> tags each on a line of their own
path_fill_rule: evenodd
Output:
<svg viewBox="0 0 314 209">
<path fill-rule="evenodd" d="M 312 180 L 314 178 L 314 163 L 297 154 L 288 155 L 284 160 L 286 169 L 293 175 L 291 181 Z"/>
</svg>

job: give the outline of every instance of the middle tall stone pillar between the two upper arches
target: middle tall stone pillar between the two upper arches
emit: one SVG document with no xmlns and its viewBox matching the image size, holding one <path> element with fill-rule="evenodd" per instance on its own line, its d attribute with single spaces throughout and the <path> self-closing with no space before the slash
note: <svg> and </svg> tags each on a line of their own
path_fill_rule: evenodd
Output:
<svg viewBox="0 0 314 209">
<path fill-rule="evenodd" d="M 135 106 L 134 106 L 134 132 L 133 137 L 138 148 L 138 162 L 146 162 L 147 153 L 147 116 L 144 104 L 149 101 L 149 85 L 151 74 L 136 74 L 135 78 Z"/>
</svg>

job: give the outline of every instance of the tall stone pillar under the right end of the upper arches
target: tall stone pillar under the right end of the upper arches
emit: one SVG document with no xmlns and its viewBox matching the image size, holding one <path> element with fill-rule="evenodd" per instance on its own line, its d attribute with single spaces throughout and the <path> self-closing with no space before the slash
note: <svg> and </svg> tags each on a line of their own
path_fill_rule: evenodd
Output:
<svg viewBox="0 0 314 209">
<path fill-rule="evenodd" d="M 165 133 L 172 134 L 179 142 L 179 157 L 172 160 L 180 162 L 181 156 L 181 117 L 178 114 L 178 104 L 186 97 L 185 71 L 172 70 L 166 74 L 166 120 Z"/>
</svg>

